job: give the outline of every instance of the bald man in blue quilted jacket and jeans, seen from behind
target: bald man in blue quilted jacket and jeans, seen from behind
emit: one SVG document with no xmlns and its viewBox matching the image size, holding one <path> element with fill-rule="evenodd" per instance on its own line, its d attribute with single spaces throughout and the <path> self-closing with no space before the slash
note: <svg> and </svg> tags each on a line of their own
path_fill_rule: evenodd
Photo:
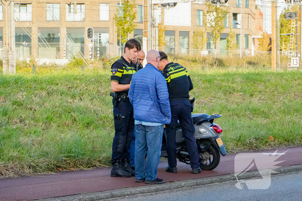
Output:
<svg viewBox="0 0 302 201">
<path fill-rule="evenodd" d="M 159 60 L 159 52 L 147 52 L 147 64 L 133 74 L 128 93 L 135 119 L 135 181 L 146 184 L 164 182 L 156 175 L 161 156 L 163 124 L 170 124 L 171 121 L 167 84 L 157 69 Z"/>
</svg>

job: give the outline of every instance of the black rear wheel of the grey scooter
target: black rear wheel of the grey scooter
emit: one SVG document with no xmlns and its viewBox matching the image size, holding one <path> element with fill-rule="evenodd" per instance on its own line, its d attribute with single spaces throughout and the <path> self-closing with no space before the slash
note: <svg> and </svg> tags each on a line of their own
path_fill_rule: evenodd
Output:
<svg viewBox="0 0 302 201">
<path fill-rule="evenodd" d="M 214 145 L 209 146 L 209 148 L 207 149 L 207 151 L 210 154 L 210 157 L 207 161 L 204 160 L 199 160 L 200 162 L 200 168 L 202 170 L 213 170 L 215 169 L 219 162 L 220 162 L 220 154 L 219 151 L 216 149 L 216 147 Z M 200 153 L 202 154 L 202 153 Z"/>
</svg>

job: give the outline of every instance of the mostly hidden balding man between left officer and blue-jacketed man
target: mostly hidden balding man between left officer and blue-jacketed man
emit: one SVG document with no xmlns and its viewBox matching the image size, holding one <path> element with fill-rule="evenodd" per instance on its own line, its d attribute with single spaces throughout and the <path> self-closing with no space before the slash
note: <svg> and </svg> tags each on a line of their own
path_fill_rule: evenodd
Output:
<svg viewBox="0 0 302 201">
<path fill-rule="evenodd" d="M 145 59 L 146 55 L 143 50 L 140 50 L 140 52 L 137 53 L 137 57 L 132 60 L 132 63 L 135 66 L 135 70 L 138 71 L 143 68 L 143 60 Z M 135 170 L 135 162 L 134 162 L 134 157 L 135 157 L 135 135 L 134 132 L 132 134 L 132 141 L 130 143 L 129 147 L 129 153 L 130 153 L 130 167 Z"/>
</svg>

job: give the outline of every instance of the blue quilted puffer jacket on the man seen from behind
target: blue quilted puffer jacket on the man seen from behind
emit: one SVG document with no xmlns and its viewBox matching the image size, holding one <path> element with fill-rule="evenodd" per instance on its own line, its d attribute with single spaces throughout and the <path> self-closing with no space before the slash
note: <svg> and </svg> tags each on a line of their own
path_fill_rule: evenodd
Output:
<svg viewBox="0 0 302 201">
<path fill-rule="evenodd" d="M 165 78 L 152 64 L 133 74 L 128 93 L 133 105 L 134 119 L 170 124 L 171 110 Z"/>
</svg>

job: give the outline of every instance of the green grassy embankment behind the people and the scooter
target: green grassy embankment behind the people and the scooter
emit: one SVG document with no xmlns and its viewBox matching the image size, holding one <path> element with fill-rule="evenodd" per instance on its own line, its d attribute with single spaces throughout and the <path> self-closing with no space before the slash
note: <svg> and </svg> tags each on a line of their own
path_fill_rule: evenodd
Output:
<svg viewBox="0 0 302 201">
<path fill-rule="evenodd" d="M 223 115 L 227 152 L 302 144 L 301 72 L 189 73 L 194 113 Z M 108 71 L 0 75 L 0 177 L 109 165 L 110 91 Z"/>
</svg>

